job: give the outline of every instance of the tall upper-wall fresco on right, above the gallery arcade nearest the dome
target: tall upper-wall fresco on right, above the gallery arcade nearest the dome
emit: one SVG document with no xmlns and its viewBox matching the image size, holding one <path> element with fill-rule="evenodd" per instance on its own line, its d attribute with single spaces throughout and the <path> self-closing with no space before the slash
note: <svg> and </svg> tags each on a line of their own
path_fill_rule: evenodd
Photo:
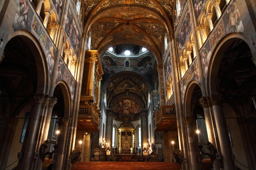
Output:
<svg viewBox="0 0 256 170">
<path fill-rule="evenodd" d="M 191 21 L 190 21 L 190 12 L 187 11 L 185 18 L 183 20 L 180 32 L 178 33 L 178 36 L 176 38 L 176 42 L 178 44 L 178 54 L 180 55 L 182 47 L 184 46 L 188 35 L 190 35 L 191 32 Z"/>
</svg>

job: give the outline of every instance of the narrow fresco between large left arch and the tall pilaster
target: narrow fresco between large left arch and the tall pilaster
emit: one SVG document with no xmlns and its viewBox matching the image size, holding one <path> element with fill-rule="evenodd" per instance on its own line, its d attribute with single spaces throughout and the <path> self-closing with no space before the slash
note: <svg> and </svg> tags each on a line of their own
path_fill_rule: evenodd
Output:
<svg viewBox="0 0 256 170">
<path fill-rule="evenodd" d="M 54 48 L 54 45 L 50 39 L 47 39 L 46 42 L 46 61 L 47 61 L 47 67 L 48 67 L 48 73 L 50 75 L 50 78 L 52 77 L 53 74 L 53 68 L 54 68 L 54 62 L 55 62 L 55 56 L 56 56 L 56 49 Z"/>
</svg>

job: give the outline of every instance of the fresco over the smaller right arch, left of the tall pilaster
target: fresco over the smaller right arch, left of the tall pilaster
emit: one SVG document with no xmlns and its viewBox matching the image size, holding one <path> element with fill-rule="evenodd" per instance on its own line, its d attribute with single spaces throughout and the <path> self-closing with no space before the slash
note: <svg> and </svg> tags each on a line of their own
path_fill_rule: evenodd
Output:
<svg viewBox="0 0 256 170">
<path fill-rule="evenodd" d="M 196 80 L 197 83 L 200 84 L 200 78 L 198 75 L 198 63 L 196 59 L 193 61 L 191 67 L 187 70 L 186 74 L 180 82 L 182 104 L 184 103 L 184 96 L 187 85 L 191 80 Z"/>
</svg>

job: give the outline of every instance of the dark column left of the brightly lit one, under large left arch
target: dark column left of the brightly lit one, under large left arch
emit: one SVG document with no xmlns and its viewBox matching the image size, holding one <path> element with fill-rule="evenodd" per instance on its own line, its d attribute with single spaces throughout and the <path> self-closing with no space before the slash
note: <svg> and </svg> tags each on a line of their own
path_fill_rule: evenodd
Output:
<svg viewBox="0 0 256 170">
<path fill-rule="evenodd" d="M 34 111 L 32 113 L 32 120 L 31 120 L 31 125 L 29 128 L 29 133 L 28 133 L 28 138 L 27 138 L 27 143 L 26 143 L 26 148 L 25 152 L 23 153 L 23 159 L 22 159 L 22 165 L 21 169 L 31 169 L 30 167 L 30 161 L 32 160 L 32 155 L 33 155 L 33 148 L 35 144 L 35 139 L 36 139 L 36 130 L 38 126 L 38 119 L 39 119 L 39 113 L 41 111 L 41 106 L 44 102 L 44 94 L 35 94 L 34 98 L 31 100 L 32 105 L 34 105 Z"/>
</svg>

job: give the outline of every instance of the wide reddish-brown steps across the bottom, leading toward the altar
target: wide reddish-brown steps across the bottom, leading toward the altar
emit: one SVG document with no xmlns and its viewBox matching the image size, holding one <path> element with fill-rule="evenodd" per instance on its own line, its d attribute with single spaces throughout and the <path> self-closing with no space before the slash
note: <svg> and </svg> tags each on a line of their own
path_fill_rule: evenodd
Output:
<svg viewBox="0 0 256 170">
<path fill-rule="evenodd" d="M 75 162 L 72 170 L 180 170 L 181 165 L 169 162 Z"/>
</svg>

